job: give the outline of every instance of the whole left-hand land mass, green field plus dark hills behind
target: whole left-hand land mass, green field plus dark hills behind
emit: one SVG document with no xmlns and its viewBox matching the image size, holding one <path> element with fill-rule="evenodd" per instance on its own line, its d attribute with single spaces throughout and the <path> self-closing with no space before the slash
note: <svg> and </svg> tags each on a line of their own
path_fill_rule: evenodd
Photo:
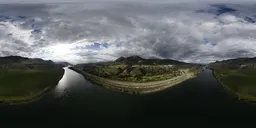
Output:
<svg viewBox="0 0 256 128">
<path fill-rule="evenodd" d="M 51 60 L 20 56 L 0 57 L 0 102 L 35 100 L 55 87 L 64 74 Z"/>
</svg>

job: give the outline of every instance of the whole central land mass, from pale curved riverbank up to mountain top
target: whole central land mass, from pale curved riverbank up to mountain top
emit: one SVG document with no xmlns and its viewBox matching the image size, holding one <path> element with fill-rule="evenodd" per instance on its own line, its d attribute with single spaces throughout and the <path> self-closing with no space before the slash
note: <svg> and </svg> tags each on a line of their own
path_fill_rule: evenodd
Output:
<svg viewBox="0 0 256 128">
<path fill-rule="evenodd" d="M 147 94 L 196 77 L 202 71 L 202 65 L 130 56 L 111 62 L 78 64 L 70 69 L 90 82 L 114 91 Z"/>
</svg>

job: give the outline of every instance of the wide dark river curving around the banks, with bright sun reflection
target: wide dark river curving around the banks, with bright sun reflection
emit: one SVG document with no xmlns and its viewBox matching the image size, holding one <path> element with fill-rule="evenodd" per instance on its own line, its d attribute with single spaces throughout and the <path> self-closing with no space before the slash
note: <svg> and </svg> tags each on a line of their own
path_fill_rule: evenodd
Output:
<svg viewBox="0 0 256 128">
<path fill-rule="evenodd" d="M 160 92 L 129 95 L 92 85 L 65 68 L 55 89 L 34 102 L 0 105 L 0 116 L 2 125 L 13 126 L 35 123 L 61 127 L 94 121 L 254 123 L 256 105 L 229 95 L 208 69 Z"/>
</svg>

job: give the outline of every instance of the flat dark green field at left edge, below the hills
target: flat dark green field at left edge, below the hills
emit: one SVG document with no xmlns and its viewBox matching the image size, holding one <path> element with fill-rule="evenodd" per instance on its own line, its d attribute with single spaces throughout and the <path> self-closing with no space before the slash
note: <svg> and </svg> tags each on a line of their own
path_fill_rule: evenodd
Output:
<svg viewBox="0 0 256 128">
<path fill-rule="evenodd" d="M 63 69 L 0 71 L 0 101 L 18 102 L 38 97 L 58 83 Z"/>
</svg>

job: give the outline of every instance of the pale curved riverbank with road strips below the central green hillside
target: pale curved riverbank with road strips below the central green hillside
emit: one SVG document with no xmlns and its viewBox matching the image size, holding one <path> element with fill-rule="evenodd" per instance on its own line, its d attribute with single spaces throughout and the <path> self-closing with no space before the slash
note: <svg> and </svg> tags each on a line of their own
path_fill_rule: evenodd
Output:
<svg viewBox="0 0 256 128">
<path fill-rule="evenodd" d="M 187 73 L 172 79 L 167 79 L 162 81 L 133 83 L 133 82 L 123 82 L 123 81 L 116 81 L 116 80 L 110 80 L 110 79 L 98 77 L 74 67 L 69 67 L 69 69 L 80 73 L 85 77 L 85 79 L 89 80 L 94 84 L 109 88 L 114 91 L 125 92 L 130 94 L 147 94 L 147 93 L 161 91 L 171 86 L 182 83 L 188 79 L 192 79 L 198 75 L 198 73 Z"/>
</svg>

